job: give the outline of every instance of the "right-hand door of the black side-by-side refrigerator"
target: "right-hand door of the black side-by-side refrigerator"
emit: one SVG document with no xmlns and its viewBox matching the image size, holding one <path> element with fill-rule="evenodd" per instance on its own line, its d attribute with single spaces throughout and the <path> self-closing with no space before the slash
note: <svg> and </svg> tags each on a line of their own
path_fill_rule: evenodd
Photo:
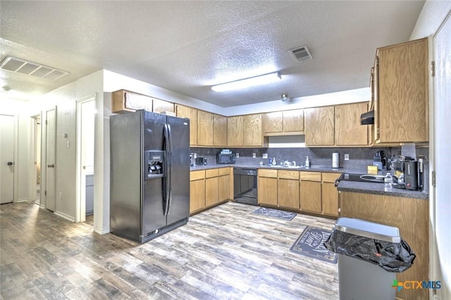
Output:
<svg viewBox="0 0 451 300">
<path fill-rule="evenodd" d="M 167 116 L 171 127 L 171 199 L 168 225 L 190 215 L 190 120 Z"/>
</svg>

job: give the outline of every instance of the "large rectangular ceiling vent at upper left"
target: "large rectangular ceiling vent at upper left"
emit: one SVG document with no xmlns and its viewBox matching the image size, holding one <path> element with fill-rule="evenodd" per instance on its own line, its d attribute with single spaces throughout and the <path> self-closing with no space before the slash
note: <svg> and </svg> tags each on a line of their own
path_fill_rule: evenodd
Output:
<svg viewBox="0 0 451 300">
<path fill-rule="evenodd" d="M 6 56 L 6 58 L 0 63 L 0 69 L 45 78 L 48 80 L 58 80 L 64 75 L 69 74 L 63 70 L 51 68 L 47 65 L 41 65 L 39 63 L 32 63 L 31 61 L 25 61 L 24 59 L 13 56 Z"/>
</svg>

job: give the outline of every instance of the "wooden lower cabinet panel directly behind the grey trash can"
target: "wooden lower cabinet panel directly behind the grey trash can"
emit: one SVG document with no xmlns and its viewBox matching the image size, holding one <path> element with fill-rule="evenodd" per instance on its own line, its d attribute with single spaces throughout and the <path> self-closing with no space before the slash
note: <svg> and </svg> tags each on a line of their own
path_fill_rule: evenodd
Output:
<svg viewBox="0 0 451 300">
<path fill-rule="evenodd" d="M 397 273 L 399 282 L 428 282 L 428 200 L 397 196 L 340 192 L 340 216 L 359 218 L 399 228 L 400 235 L 416 254 L 409 270 Z M 397 299 L 428 299 L 428 289 L 400 289 Z"/>
</svg>

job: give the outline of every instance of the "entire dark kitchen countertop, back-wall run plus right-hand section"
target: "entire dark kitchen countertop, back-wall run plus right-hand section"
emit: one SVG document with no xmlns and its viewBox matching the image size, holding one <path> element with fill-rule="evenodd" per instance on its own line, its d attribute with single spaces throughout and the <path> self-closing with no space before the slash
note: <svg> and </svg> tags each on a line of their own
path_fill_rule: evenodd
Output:
<svg viewBox="0 0 451 300">
<path fill-rule="evenodd" d="M 298 170 L 298 171 L 309 171 L 309 172 L 328 172 L 328 173 L 356 173 L 356 174 L 366 174 L 366 170 L 351 169 L 351 168 L 332 168 L 327 166 L 312 166 L 311 168 L 288 168 L 281 165 L 271 166 L 271 165 L 256 165 L 252 163 L 233 163 L 233 164 L 219 164 L 219 163 L 209 163 L 208 165 L 194 165 L 191 166 L 190 170 L 208 170 L 214 168 L 257 168 L 257 169 L 276 169 L 276 170 Z M 375 182 L 357 182 L 357 181 L 340 181 L 337 187 L 338 191 L 343 192 L 356 192 L 364 194 L 381 194 L 388 196 L 400 196 L 414 199 L 429 199 L 429 193 L 427 191 L 411 191 L 408 189 L 395 189 L 391 191 L 385 191 L 382 183 Z"/>
</svg>

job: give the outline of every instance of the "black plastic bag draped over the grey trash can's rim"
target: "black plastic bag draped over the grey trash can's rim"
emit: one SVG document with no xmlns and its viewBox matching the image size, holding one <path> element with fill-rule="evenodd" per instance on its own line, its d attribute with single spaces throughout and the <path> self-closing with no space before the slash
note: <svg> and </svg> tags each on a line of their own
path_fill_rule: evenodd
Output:
<svg viewBox="0 0 451 300">
<path fill-rule="evenodd" d="M 409 244 L 385 242 L 333 230 L 324 246 L 336 254 L 343 254 L 381 266 L 388 272 L 401 273 L 412 267 L 416 255 Z"/>
</svg>

